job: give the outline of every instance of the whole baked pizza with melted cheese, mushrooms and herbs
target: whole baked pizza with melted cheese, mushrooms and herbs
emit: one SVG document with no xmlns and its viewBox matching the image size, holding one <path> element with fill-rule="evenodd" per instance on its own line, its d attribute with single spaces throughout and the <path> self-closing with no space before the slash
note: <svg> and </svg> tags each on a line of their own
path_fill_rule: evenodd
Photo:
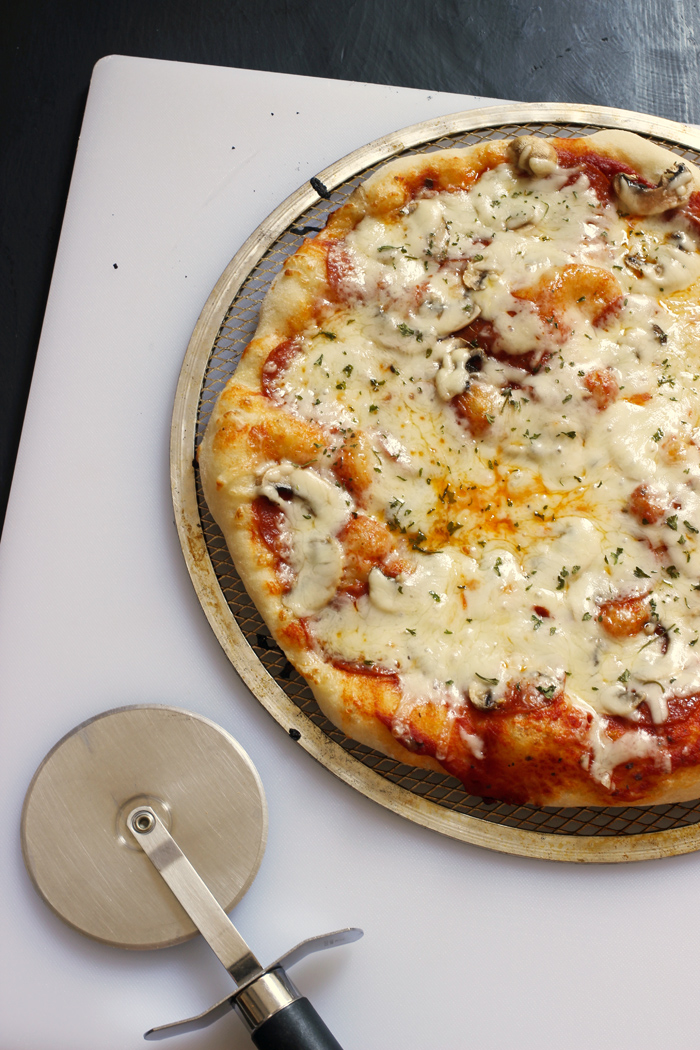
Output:
<svg viewBox="0 0 700 1050">
<path fill-rule="evenodd" d="M 535 805 L 700 795 L 700 172 L 405 156 L 287 259 L 199 449 L 347 736 Z"/>
</svg>

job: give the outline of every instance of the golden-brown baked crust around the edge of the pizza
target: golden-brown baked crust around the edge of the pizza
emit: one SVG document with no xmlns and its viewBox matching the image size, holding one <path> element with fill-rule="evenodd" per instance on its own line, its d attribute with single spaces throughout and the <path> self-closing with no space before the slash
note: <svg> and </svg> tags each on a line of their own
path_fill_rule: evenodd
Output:
<svg viewBox="0 0 700 1050">
<path fill-rule="evenodd" d="M 652 186 L 678 162 L 675 154 L 623 131 L 601 131 L 566 140 L 565 145 L 581 156 L 594 153 L 619 162 Z M 674 752 L 673 768 L 666 769 L 669 763 L 660 765 L 656 755 L 636 755 L 630 781 L 620 763 L 607 784 L 590 775 L 590 761 L 586 764 L 590 715 L 569 702 L 565 692 L 557 692 L 552 702 L 546 690 L 537 692 L 530 686 L 523 695 L 511 691 L 507 702 L 493 711 L 480 710 L 464 697 L 464 717 L 453 705 L 434 697 L 406 706 L 399 677 L 390 668 L 368 673 L 352 662 L 330 659 L 315 644 L 309 617 L 285 604 L 289 566 L 280 568 L 279 550 L 266 538 L 267 526 L 260 522 L 266 471 L 279 464 L 303 469 L 318 447 L 327 444 L 326 427 L 291 412 L 269 396 L 266 384 L 271 375 L 276 379 L 284 374 L 304 332 L 310 327 L 322 329 L 324 318 L 338 309 L 328 275 L 333 246 L 341 245 L 363 219 L 396 217 L 419 190 L 425 193 L 426 186 L 436 192 L 465 191 L 485 171 L 510 164 L 512 158 L 510 142 L 504 140 L 390 162 L 355 190 L 323 231 L 304 240 L 268 293 L 255 336 L 212 413 L 198 453 L 205 497 L 275 640 L 310 684 L 324 715 L 348 737 L 398 761 L 446 770 L 472 793 L 511 801 L 610 805 L 692 799 L 700 794 L 700 717 L 694 705 L 685 705 L 693 709 L 685 719 L 677 705 L 679 710 L 667 722 L 673 733 L 683 735 L 683 761 Z M 697 193 L 700 172 L 684 164 Z M 397 556 L 406 549 L 401 539 L 396 542 Z M 635 724 L 614 720 L 613 739 L 624 730 L 635 730 Z M 643 724 L 656 732 L 649 719 Z M 465 743 L 465 738 L 471 742 Z M 481 742 L 474 743 L 476 739 Z"/>
</svg>

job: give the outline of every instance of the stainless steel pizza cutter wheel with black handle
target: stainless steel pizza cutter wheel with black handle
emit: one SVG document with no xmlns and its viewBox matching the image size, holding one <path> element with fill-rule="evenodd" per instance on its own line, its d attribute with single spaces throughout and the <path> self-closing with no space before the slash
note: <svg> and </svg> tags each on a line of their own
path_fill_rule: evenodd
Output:
<svg viewBox="0 0 700 1050">
<path fill-rule="evenodd" d="M 227 916 L 264 852 L 268 811 L 242 748 L 200 715 L 116 708 L 63 737 L 24 800 L 22 849 L 39 894 L 70 926 L 123 948 L 201 933 L 236 987 L 209 1010 L 147 1040 L 204 1028 L 234 1009 L 260 1050 L 341 1050 L 287 969 L 347 944 L 346 928 L 262 966 Z"/>
</svg>

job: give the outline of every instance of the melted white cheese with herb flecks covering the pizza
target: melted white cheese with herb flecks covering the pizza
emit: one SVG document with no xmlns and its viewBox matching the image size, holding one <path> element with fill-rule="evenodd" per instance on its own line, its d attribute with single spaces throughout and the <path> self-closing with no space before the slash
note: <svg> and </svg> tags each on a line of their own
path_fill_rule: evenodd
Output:
<svg viewBox="0 0 700 1050">
<path fill-rule="evenodd" d="M 312 615 L 324 652 L 394 669 L 406 704 L 450 708 L 470 690 L 497 700 L 513 680 L 565 687 L 595 713 L 584 761 L 610 786 L 616 764 L 657 744 L 640 732 L 613 742 L 604 716 L 634 720 L 645 701 L 661 722 L 671 696 L 700 689 L 696 236 L 682 216 L 620 217 L 582 174 L 502 165 L 393 222 L 364 218 L 346 250 L 348 306 L 310 329 L 277 391 L 328 445 L 260 487 L 292 533 L 287 604 Z M 572 266 L 619 287 L 603 322 L 586 295 L 548 316 L 527 291 Z M 505 356 L 483 362 L 474 390 L 490 401 L 470 429 L 449 402 L 471 392 L 473 348 L 454 333 L 479 315 Z M 535 374 L 518 363 L 533 351 L 546 361 Z M 602 408 L 586 382 L 595 372 L 619 387 Z M 352 600 L 336 595 L 335 536 L 355 505 L 321 475 L 359 444 L 364 509 L 407 541 L 410 570 L 373 568 Z M 640 483 L 665 500 L 655 524 L 629 511 Z M 601 606 L 634 596 L 650 600 L 650 633 L 611 636 Z M 478 737 L 466 743 L 483 756 Z"/>
</svg>

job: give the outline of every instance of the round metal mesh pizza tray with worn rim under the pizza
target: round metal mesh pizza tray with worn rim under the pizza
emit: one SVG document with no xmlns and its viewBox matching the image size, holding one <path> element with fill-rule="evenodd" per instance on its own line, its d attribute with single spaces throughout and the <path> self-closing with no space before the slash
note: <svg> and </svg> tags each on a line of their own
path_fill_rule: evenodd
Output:
<svg viewBox="0 0 700 1050">
<path fill-rule="evenodd" d="M 179 376 L 171 433 L 171 482 L 181 544 L 203 608 L 255 696 L 302 748 L 353 788 L 445 835 L 504 853 L 569 861 L 625 861 L 700 846 L 700 799 L 623 808 L 537 808 L 468 795 L 447 774 L 403 765 L 348 739 L 273 642 L 233 566 L 205 502 L 195 462 L 214 402 L 250 341 L 260 302 L 285 258 L 320 229 L 386 160 L 516 134 L 578 136 L 624 128 L 700 164 L 700 132 L 600 106 L 535 104 L 475 109 L 412 125 L 319 172 L 246 242 L 211 293 Z M 324 194 L 330 191 L 326 198 Z"/>
</svg>

